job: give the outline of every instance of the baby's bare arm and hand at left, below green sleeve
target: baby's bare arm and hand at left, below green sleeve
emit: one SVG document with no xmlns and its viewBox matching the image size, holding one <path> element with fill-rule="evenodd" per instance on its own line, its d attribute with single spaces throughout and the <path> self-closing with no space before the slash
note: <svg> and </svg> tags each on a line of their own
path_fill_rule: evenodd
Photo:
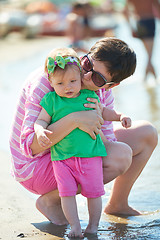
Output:
<svg viewBox="0 0 160 240">
<path fill-rule="evenodd" d="M 51 116 L 46 112 L 44 108 L 42 108 L 34 124 L 34 131 L 37 135 L 37 141 L 41 147 L 47 147 L 52 143 L 46 135 L 46 133 L 52 134 L 51 131 L 46 129 L 50 121 L 51 121 Z"/>
</svg>

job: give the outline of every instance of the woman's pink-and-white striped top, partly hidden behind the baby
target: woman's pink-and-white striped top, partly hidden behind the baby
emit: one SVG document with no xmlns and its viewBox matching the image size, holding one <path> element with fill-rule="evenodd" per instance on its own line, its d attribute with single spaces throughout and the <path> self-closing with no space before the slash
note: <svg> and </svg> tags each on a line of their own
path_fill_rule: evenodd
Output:
<svg viewBox="0 0 160 240">
<path fill-rule="evenodd" d="M 37 161 L 44 157 L 50 150 L 32 156 L 30 145 L 34 136 L 34 122 L 37 119 L 41 106 L 42 97 L 53 91 L 43 69 L 34 71 L 26 80 L 21 92 L 17 111 L 14 118 L 11 136 L 10 150 L 12 156 L 12 173 L 19 182 L 32 177 Z M 111 90 L 99 90 L 98 95 L 101 103 L 113 108 L 113 96 Z M 102 128 L 109 140 L 116 140 L 111 122 L 105 122 Z"/>
</svg>

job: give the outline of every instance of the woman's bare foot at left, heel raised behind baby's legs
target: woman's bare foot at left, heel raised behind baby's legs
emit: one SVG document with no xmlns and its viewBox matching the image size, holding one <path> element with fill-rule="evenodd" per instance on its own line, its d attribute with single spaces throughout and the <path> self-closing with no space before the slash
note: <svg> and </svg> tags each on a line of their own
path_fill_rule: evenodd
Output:
<svg viewBox="0 0 160 240">
<path fill-rule="evenodd" d="M 55 191 L 40 196 L 36 201 L 37 209 L 52 223 L 56 225 L 66 225 L 66 220 L 59 197 Z"/>
</svg>

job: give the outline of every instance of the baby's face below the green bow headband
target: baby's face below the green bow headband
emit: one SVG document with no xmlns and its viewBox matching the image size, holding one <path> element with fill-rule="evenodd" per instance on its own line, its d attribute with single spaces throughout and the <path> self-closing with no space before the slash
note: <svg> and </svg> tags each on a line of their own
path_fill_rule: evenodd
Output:
<svg viewBox="0 0 160 240">
<path fill-rule="evenodd" d="M 78 97 L 81 90 L 81 74 L 77 66 L 69 67 L 60 71 L 54 76 L 50 76 L 51 86 L 60 97 Z"/>
</svg>

